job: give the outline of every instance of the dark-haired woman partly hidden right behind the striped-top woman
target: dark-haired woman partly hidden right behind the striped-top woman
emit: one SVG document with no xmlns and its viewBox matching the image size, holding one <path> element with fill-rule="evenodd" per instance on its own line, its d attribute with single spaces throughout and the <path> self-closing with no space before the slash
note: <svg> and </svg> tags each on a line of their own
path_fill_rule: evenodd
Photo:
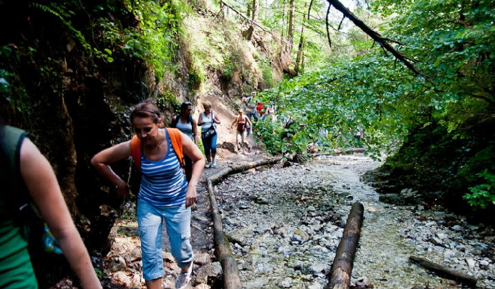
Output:
<svg viewBox="0 0 495 289">
<path fill-rule="evenodd" d="M 181 105 L 181 113 L 172 118 L 172 127 L 175 127 L 190 137 L 191 140 L 197 145 L 197 122 L 192 119 L 190 115 L 192 111 L 192 104 L 185 101 Z M 186 170 L 186 180 L 189 182 L 192 175 L 192 160 L 188 156 L 184 156 L 184 169 Z"/>
</svg>

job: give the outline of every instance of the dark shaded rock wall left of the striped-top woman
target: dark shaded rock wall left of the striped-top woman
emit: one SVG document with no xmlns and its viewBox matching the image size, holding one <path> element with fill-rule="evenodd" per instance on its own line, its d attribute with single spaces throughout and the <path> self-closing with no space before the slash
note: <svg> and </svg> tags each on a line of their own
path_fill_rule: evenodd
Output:
<svg viewBox="0 0 495 289">
<path fill-rule="evenodd" d="M 146 97 L 143 65 L 92 56 L 61 19 L 32 3 L 2 6 L 3 27 L 12 28 L 1 43 L 8 82 L 0 98 L 3 122 L 31 133 L 54 168 L 81 235 L 90 248 L 102 248 L 116 216 L 109 212 L 119 201 L 102 192 L 89 160 L 129 137 L 127 107 Z"/>
</svg>

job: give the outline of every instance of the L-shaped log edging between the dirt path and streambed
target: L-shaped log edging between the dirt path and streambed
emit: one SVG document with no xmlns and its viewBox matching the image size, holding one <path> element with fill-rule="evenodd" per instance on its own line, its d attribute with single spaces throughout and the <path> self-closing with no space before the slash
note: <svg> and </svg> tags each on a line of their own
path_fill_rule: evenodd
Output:
<svg viewBox="0 0 495 289">
<path fill-rule="evenodd" d="M 217 199 L 213 190 L 213 183 L 219 182 L 226 175 L 232 173 L 239 173 L 247 169 L 252 169 L 264 164 L 270 164 L 278 162 L 281 158 L 272 158 L 269 160 L 259 160 L 256 162 L 249 162 L 248 164 L 242 164 L 238 166 L 232 166 L 228 169 L 223 169 L 216 175 L 210 176 L 206 179 L 208 186 L 208 195 L 210 196 L 210 206 L 212 211 L 212 221 L 213 221 L 213 238 L 214 238 L 214 248 L 215 255 L 221 261 L 223 270 L 223 288 L 225 289 L 241 289 L 241 277 L 239 277 L 239 269 L 237 268 L 237 262 L 232 256 L 232 250 L 230 250 L 230 244 L 227 236 L 223 233 L 223 226 L 221 223 L 221 217 L 219 213 L 219 208 L 217 205 Z"/>
</svg>

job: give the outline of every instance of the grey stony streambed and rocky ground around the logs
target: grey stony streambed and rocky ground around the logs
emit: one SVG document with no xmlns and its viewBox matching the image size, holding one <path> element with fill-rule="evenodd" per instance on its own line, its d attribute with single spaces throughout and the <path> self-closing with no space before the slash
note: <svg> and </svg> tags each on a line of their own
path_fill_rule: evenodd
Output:
<svg viewBox="0 0 495 289">
<path fill-rule="evenodd" d="M 410 255 L 472 275 L 477 288 L 495 288 L 494 231 L 445 211 L 380 202 L 360 180 L 379 165 L 362 154 L 319 156 L 305 165 L 251 169 L 214 186 L 243 288 L 323 288 L 354 202 L 365 209 L 351 279 L 356 288 L 463 288 L 410 263 Z M 192 284 L 221 288 L 208 196 L 204 186 L 198 191 Z M 121 222 L 104 257 L 102 279 L 109 288 L 144 288 L 135 227 L 132 220 Z M 164 288 L 174 288 L 179 268 L 170 253 L 164 260 Z"/>
</svg>

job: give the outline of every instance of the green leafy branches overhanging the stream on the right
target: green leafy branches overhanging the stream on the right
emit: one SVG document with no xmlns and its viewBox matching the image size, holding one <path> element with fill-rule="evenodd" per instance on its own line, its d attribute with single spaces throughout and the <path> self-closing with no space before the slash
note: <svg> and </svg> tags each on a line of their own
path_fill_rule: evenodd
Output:
<svg viewBox="0 0 495 289">
<path fill-rule="evenodd" d="M 380 47 L 357 38 L 353 46 L 359 56 L 263 92 L 264 102 L 278 105 L 279 126 L 286 127 L 283 120 L 291 118 L 300 124 L 290 138 L 280 136 L 273 150 L 305 151 L 312 138 L 321 136 L 320 129 L 328 132 L 322 139 L 328 147 L 356 146 L 353 132 L 362 127 L 372 156 L 414 141 L 419 147 L 409 146 L 410 152 L 397 156 L 395 168 L 410 178 L 426 177 L 437 168 L 437 188 L 452 188 L 453 194 L 457 184 L 470 204 L 493 205 L 493 166 L 487 154 L 477 153 L 482 145 L 494 145 L 486 142 L 494 136 L 488 127 L 495 124 L 494 8 L 493 1 L 374 1 L 373 12 L 388 17 L 381 25 L 384 36 L 402 43 L 395 48 L 430 78 L 412 74 Z M 434 136 L 424 135 L 421 127 Z M 417 142 L 421 136 L 428 142 Z M 469 166 L 472 158 L 481 164 L 476 169 Z"/>
</svg>

